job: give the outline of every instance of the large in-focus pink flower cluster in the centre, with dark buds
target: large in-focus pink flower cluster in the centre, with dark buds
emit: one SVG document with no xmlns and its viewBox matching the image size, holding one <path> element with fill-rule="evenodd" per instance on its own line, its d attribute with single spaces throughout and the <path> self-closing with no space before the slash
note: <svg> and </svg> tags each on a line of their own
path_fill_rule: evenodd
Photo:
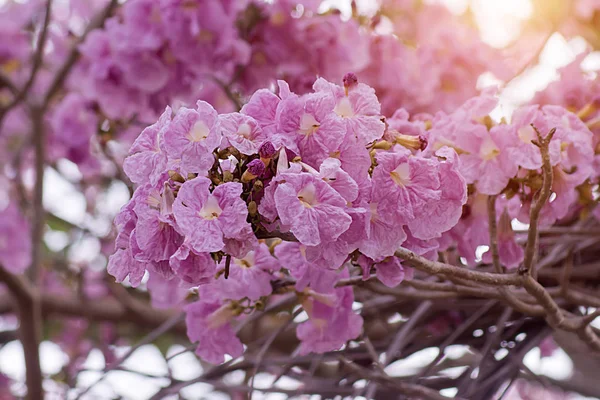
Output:
<svg viewBox="0 0 600 400">
<path fill-rule="evenodd" d="M 395 116 L 394 126 L 413 126 Z M 361 332 L 353 290 L 336 287 L 352 265 L 390 286 L 405 268 L 400 246 L 434 254 L 467 199 L 449 147 L 428 154 L 415 123 L 401 134 L 385 122 L 369 86 L 347 74 L 298 95 L 254 93 L 240 112 L 208 103 L 167 108 L 137 138 L 125 171 L 138 185 L 115 223 L 108 270 L 152 296 L 198 287 L 187 306 L 198 354 L 222 362 L 242 345 L 233 322 L 292 279 L 308 321 L 302 352 L 337 349 Z M 288 235 L 293 241 L 259 238 Z M 183 297 L 172 295 L 172 305 Z M 168 304 L 167 304 L 168 305 Z"/>
</svg>

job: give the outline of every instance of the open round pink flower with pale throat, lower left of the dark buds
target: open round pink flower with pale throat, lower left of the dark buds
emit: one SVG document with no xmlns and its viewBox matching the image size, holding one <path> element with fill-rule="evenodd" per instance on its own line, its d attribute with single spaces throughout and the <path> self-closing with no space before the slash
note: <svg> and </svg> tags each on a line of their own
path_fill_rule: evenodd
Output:
<svg viewBox="0 0 600 400">
<path fill-rule="evenodd" d="M 177 195 L 173 212 L 177 225 L 196 253 L 223 250 L 225 239 L 241 238 L 248 209 L 241 199 L 240 183 L 224 183 L 210 192 L 212 182 L 197 177 L 186 181 Z"/>
</svg>

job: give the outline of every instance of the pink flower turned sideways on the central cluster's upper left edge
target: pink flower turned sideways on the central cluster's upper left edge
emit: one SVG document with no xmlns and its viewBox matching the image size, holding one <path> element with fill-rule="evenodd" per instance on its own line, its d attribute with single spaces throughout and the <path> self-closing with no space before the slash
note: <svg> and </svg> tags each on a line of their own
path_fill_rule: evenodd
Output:
<svg viewBox="0 0 600 400">
<path fill-rule="evenodd" d="M 171 108 L 167 107 L 156 123 L 142 131 L 135 140 L 123 169 L 133 183 L 155 185 L 167 166 L 167 156 L 161 150 L 164 131 L 171 123 Z"/>
</svg>

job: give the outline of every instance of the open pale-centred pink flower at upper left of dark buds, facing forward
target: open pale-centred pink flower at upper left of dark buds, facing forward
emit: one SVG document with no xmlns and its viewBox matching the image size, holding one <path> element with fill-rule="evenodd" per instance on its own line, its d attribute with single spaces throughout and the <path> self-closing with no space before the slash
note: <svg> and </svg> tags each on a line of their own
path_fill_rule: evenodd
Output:
<svg viewBox="0 0 600 400">
<path fill-rule="evenodd" d="M 213 150 L 221 142 L 216 129 L 217 112 L 204 101 L 196 110 L 181 108 L 164 133 L 169 157 L 181 160 L 185 172 L 205 174 L 215 162 Z"/>
</svg>

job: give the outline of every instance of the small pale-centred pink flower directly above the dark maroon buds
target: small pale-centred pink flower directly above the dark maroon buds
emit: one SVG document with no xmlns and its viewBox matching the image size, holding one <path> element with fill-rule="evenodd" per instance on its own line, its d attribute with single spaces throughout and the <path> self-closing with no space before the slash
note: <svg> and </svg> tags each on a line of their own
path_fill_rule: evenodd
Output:
<svg viewBox="0 0 600 400">
<path fill-rule="evenodd" d="M 226 140 L 226 144 L 245 155 L 256 154 L 266 138 L 254 118 L 240 113 L 220 115 L 217 130 Z"/>
</svg>

